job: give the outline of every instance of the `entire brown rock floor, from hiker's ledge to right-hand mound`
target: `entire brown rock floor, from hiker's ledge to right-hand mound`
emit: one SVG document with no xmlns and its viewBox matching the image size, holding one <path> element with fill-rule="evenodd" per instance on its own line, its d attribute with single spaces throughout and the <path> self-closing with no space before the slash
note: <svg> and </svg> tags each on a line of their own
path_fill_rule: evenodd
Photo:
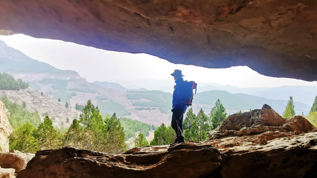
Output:
<svg viewBox="0 0 317 178">
<path fill-rule="evenodd" d="M 17 178 L 316 178 L 317 129 L 264 105 L 228 117 L 211 139 L 123 154 L 63 148 L 37 152 Z"/>
</svg>

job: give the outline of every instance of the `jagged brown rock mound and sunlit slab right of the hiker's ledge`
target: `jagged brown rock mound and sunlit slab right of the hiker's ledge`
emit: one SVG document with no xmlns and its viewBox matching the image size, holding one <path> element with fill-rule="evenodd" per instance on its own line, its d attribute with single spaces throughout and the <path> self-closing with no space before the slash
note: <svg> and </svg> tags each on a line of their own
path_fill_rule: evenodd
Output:
<svg viewBox="0 0 317 178">
<path fill-rule="evenodd" d="M 229 116 L 206 143 L 225 156 L 221 178 L 316 178 L 317 129 L 268 105 Z"/>
</svg>

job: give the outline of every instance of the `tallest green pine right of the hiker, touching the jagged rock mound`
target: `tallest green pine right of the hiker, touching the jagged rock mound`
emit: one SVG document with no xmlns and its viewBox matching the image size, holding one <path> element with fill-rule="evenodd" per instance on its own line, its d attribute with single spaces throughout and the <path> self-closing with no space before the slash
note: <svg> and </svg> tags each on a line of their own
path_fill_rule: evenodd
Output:
<svg viewBox="0 0 317 178">
<path fill-rule="evenodd" d="M 210 112 L 211 129 L 217 128 L 218 126 L 220 126 L 222 121 L 226 119 L 227 113 L 225 111 L 226 109 L 220 103 L 220 100 L 217 99 L 215 106 L 211 109 Z"/>
</svg>

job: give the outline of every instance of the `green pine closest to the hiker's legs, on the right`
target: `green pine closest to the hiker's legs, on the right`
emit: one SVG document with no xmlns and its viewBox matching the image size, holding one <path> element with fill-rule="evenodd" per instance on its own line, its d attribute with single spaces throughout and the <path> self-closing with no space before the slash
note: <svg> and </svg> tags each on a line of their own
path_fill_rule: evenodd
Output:
<svg viewBox="0 0 317 178">
<path fill-rule="evenodd" d="M 186 117 L 183 122 L 184 127 L 184 137 L 185 141 L 188 141 L 190 139 L 195 139 L 197 137 L 197 126 L 195 122 L 196 115 L 193 113 L 193 108 L 190 108 L 188 112 L 186 113 Z"/>
</svg>

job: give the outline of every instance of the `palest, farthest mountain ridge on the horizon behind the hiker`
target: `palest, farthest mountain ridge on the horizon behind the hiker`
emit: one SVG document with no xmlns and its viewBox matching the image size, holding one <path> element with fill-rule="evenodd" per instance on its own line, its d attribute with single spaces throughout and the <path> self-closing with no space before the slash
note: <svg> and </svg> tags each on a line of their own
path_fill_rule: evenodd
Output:
<svg viewBox="0 0 317 178">
<path fill-rule="evenodd" d="M 134 80 L 134 81 L 116 81 L 116 83 L 125 88 L 145 88 L 149 90 L 160 90 L 164 92 L 173 92 L 174 81 L 171 80 Z M 268 99 L 289 100 L 289 96 L 298 102 L 312 106 L 317 95 L 315 86 L 282 86 L 277 88 L 237 88 L 230 85 L 220 85 L 216 83 L 198 83 L 197 93 L 210 90 L 224 90 L 229 93 L 244 93 L 254 96 L 260 96 Z"/>
</svg>

